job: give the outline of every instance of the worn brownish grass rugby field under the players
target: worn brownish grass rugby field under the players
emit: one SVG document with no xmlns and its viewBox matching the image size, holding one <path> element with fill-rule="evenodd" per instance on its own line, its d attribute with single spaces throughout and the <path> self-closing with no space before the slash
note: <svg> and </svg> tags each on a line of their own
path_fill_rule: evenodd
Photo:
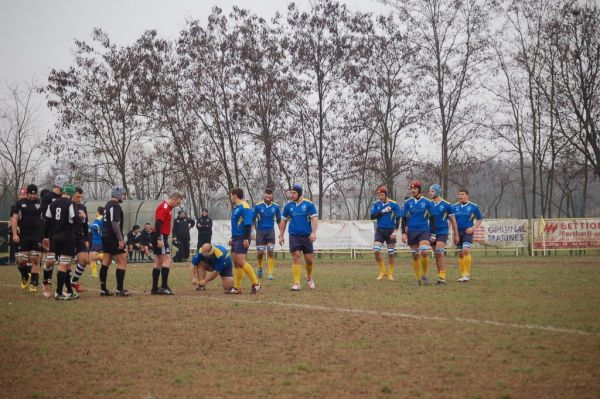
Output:
<svg viewBox="0 0 600 399">
<path fill-rule="evenodd" d="M 258 295 L 202 293 L 188 269 L 174 297 L 150 296 L 131 265 L 130 298 L 79 301 L 18 288 L 0 268 L 0 392 L 6 398 L 598 398 L 598 257 L 474 257 L 473 280 L 417 287 L 401 261 L 322 260 L 317 288 L 289 291 L 289 260 Z M 114 270 L 109 288 L 114 288 Z"/>
</svg>

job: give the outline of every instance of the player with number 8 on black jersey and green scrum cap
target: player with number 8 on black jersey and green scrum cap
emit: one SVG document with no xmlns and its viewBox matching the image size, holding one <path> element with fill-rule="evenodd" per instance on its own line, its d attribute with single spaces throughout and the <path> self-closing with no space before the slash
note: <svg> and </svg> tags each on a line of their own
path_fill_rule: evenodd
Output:
<svg viewBox="0 0 600 399">
<path fill-rule="evenodd" d="M 67 270 L 75 256 L 74 227 L 79 215 L 75 213 L 75 206 L 71 201 L 71 197 L 75 195 L 75 186 L 69 183 L 63 185 L 62 193 L 62 196 L 53 201 L 46 210 L 44 248 L 52 251 L 58 259 L 54 299 L 72 300 L 78 299 L 79 295 L 73 292 Z M 67 289 L 66 295 L 63 294 L 64 287 Z"/>
</svg>

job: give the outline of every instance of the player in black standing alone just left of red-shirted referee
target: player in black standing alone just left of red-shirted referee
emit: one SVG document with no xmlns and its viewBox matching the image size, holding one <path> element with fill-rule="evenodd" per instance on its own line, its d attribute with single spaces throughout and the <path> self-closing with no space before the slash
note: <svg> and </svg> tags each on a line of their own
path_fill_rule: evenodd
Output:
<svg viewBox="0 0 600 399">
<path fill-rule="evenodd" d="M 127 268 L 127 254 L 125 253 L 125 240 L 123 238 L 123 209 L 120 203 L 125 198 L 125 189 L 114 187 L 111 198 L 104 206 L 104 218 L 102 224 L 102 246 L 104 247 L 104 258 L 100 268 L 100 295 L 113 295 L 106 288 L 106 277 L 108 267 L 114 259 L 117 263 L 117 296 L 129 296 L 129 291 L 123 289 L 125 280 L 125 269 Z"/>
</svg>

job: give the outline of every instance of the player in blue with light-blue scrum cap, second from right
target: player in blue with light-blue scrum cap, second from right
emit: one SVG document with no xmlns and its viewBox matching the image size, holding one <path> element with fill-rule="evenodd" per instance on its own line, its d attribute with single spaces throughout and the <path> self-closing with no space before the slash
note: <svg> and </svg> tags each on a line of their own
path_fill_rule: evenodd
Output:
<svg viewBox="0 0 600 399">
<path fill-rule="evenodd" d="M 452 205 L 441 197 L 442 187 L 439 184 L 432 184 L 429 187 L 429 196 L 434 203 L 432 212 L 435 220 L 435 231 L 431 232 L 430 242 L 435 247 L 435 262 L 438 268 L 438 284 L 446 284 L 446 253 L 445 248 L 448 242 L 448 222 L 452 225 L 454 233 L 454 242 L 458 243 L 458 230 L 456 229 L 456 218 Z"/>
</svg>

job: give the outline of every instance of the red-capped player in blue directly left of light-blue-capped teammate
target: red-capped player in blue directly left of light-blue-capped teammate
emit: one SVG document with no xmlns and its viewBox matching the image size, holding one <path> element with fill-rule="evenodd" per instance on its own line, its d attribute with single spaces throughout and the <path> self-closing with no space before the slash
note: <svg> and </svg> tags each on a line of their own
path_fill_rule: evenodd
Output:
<svg viewBox="0 0 600 399">
<path fill-rule="evenodd" d="M 431 229 L 435 222 L 431 217 L 434 204 L 421 195 L 422 184 L 418 180 L 410 182 L 411 197 L 402 207 L 402 241 L 408 243 L 412 251 L 412 266 L 417 285 L 428 285 L 427 270 L 431 251 Z"/>
</svg>

